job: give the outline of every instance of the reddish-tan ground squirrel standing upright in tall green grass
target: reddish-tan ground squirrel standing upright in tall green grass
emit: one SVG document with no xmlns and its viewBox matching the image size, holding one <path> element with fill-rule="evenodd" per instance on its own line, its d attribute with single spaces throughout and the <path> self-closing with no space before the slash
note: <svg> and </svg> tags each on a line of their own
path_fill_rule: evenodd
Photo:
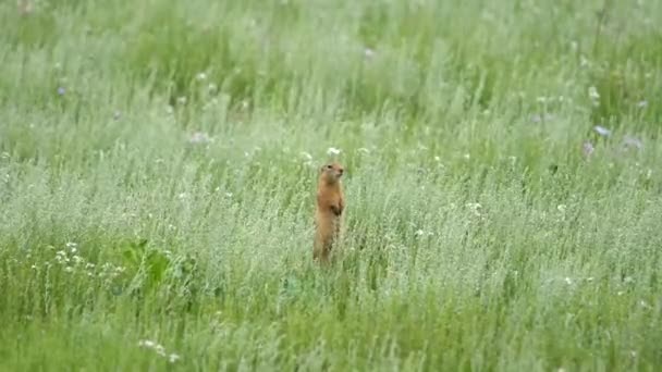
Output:
<svg viewBox="0 0 662 372">
<path fill-rule="evenodd" d="M 338 239 L 345 197 L 340 178 L 343 166 L 336 162 L 319 170 L 317 183 L 317 209 L 315 211 L 315 246 L 312 259 L 329 262 L 329 253 Z"/>
</svg>

